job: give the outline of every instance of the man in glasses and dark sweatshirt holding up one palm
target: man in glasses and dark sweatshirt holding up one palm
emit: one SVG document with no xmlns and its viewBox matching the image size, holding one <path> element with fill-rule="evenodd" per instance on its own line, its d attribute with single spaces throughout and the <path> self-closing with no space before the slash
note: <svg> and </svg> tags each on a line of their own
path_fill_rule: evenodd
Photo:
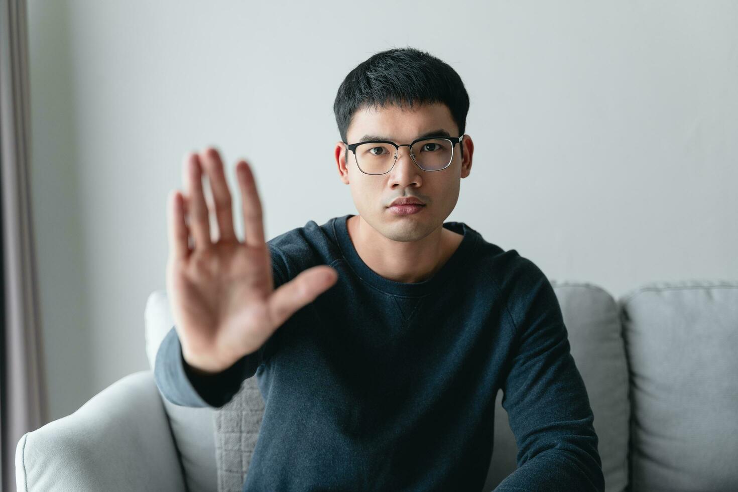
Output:
<svg viewBox="0 0 738 492">
<path fill-rule="evenodd" d="M 256 375 L 266 406 L 244 491 L 480 491 L 499 389 L 518 468 L 497 490 L 604 490 L 551 284 L 514 249 L 444 223 L 472 167 L 468 109 L 461 78 L 426 52 L 360 63 L 334 103 L 359 215 L 269 243 L 249 165 L 236 164 L 241 243 L 217 151 L 188 156 L 188 193 L 168 204 L 176 325 L 156 384 L 173 403 L 218 408 Z"/>
</svg>

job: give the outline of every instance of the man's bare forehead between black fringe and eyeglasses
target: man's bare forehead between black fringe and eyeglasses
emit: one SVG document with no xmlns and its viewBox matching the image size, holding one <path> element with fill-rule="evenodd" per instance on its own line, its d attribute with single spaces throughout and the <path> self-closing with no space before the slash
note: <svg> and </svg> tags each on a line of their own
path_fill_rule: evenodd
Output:
<svg viewBox="0 0 738 492">
<path fill-rule="evenodd" d="M 424 105 L 385 105 L 359 108 L 351 118 L 346 131 L 348 143 L 356 142 L 364 135 L 387 136 L 396 142 L 410 142 L 427 131 L 443 128 L 457 136 L 458 128 L 449 107 L 443 103 Z"/>
</svg>

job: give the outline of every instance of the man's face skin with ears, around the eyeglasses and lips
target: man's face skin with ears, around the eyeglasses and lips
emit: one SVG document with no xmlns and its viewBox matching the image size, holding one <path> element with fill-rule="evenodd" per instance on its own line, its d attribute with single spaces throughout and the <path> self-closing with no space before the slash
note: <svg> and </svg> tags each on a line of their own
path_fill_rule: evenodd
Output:
<svg viewBox="0 0 738 492">
<path fill-rule="evenodd" d="M 384 108 L 362 108 L 356 111 L 346 139 L 352 144 L 365 135 L 382 136 L 396 144 L 409 144 L 429 131 L 445 130 L 459 136 L 451 111 L 441 103 L 396 105 Z M 463 159 L 461 145 L 464 145 Z M 351 195 L 359 215 L 380 234 L 390 240 L 416 241 L 443 226 L 456 206 L 461 178 L 469 176 L 473 144 L 469 136 L 454 146 L 451 164 L 444 170 L 425 171 L 413 162 L 410 148 L 399 148 L 397 162 L 390 172 L 380 175 L 362 173 L 356 166 L 354 153 L 338 142 L 336 160 L 341 180 L 351 186 Z M 398 197 L 415 197 L 425 205 L 419 212 L 396 215 L 389 207 Z"/>
</svg>

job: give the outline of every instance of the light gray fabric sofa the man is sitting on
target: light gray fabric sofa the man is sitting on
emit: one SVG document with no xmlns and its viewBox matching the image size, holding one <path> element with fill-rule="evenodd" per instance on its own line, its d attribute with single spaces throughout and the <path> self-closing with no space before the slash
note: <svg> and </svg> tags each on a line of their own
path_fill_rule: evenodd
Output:
<svg viewBox="0 0 738 492">
<path fill-rule="evenodd" d="M 738 282 L 651 283 L 617 301 L 551 280 L 599 436 L 607 491 L 738 491 Z M 150 367 L 173 326 L 145 308 Z M 497 394 L 492 490 L 516 467 Z M 255 378 L 222 409 L 162 400 L 151 370 L 24 434 L 18 491 L 241 491 L 263 412 Z M 442 425 L 442 423 L 441 423 Z"/>
</svg>

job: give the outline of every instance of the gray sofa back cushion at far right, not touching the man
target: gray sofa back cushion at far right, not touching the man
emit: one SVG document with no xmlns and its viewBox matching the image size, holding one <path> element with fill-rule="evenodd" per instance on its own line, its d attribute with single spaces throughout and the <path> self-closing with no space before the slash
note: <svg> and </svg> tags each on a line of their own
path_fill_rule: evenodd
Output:
<svg viewBox="0 0 738 492">
<path fill-rule="evenodd" d="M 618 304 L 632 490 L 738 490 L 738 283 L 649 283 Z"/>
</svg>

